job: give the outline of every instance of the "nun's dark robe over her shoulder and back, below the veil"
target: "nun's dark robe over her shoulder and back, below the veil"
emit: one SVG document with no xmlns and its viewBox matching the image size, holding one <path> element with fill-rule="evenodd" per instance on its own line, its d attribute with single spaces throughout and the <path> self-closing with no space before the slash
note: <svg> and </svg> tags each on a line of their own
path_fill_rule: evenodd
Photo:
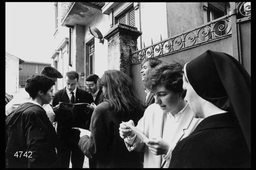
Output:
<svg viewBox="0 0 256 170">
<path fill-rule="evenodd" d="M 177 143 L 170 168 L 250 167 L 250 153 L 237 121 L 230 113 L 205 118 Z"/>
</svg>

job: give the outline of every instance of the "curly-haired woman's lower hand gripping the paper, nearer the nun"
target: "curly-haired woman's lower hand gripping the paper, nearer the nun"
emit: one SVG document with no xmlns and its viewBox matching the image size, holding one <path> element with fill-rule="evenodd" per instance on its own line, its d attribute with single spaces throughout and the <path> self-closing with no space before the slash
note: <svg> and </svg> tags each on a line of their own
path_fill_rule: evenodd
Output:
<svg viewBox="0 0 256 170">
<path fill-rule="evenodd" d="M 146 143 L 148 145 L 148 149 L 153 153 L 154 155 L 163 155 L 166 154 L 169 150 L 169 143 L 162 139 L 149 139 Z"/>
</svg>

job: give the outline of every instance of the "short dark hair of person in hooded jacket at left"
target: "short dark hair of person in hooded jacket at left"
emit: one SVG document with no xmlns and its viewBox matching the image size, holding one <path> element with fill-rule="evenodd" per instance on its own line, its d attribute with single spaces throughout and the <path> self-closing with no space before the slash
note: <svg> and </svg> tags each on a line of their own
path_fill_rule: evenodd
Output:
<svg viewBox="0 0 256 170">
<path fill-rule="evenodd" d="M 54 80 L 47 76 L 32 75 L 26 80 L 25 90 L 32 99 L 35 99 L 39 90 L 46 94 L 53 85 L 55 85 Z"/>
</svg>

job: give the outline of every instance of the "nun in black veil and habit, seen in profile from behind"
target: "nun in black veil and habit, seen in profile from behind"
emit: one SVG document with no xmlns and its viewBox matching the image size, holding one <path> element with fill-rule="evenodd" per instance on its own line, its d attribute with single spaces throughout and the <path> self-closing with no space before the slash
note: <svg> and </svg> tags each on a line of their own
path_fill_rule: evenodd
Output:
<svg viewBox="0 0 256 170">
<path fill-rule="evenodd" d="M 250 167 L 250 76 L 241 64 L 208 50 L 184 65 L 183 88 L 204 120 L 177 143 L 169 167 Z"/>
</svg>

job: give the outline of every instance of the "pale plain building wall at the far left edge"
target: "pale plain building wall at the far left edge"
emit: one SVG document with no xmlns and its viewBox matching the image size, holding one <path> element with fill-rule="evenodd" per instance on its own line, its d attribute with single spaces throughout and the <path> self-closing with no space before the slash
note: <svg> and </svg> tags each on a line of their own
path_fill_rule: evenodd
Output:
<svg viewBox="0 0 256 170">
<path fill-rule="evenodd" d="M 6 93 L 15 95 L 19 92 L 19 71 L 22 69 L 20 68 L 20 64 L 24 61 L 12 54 L 6 52 L 6 78 L 5 78 L 5 85 L 6 85 Z"/>
</svg>

